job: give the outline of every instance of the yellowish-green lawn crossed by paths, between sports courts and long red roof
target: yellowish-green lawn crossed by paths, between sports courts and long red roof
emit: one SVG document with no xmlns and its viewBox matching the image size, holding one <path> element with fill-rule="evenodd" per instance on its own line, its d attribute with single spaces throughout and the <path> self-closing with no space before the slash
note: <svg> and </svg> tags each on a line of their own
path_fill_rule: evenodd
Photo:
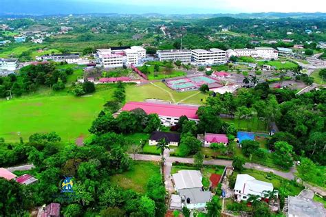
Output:
<svg viewBox="0 0 326 217">
<path fill-rule="evenodd" d="M 155 82 L 158 87 L 155 87 L 153 84 L 144 84 L 141 86 L 128 85 L 126 88 L 126 101 L 136 101 L 142 102 L 146 99 L 159 99 L 167 100 L 173 102 L 169 93 L 173 95 L 175 102 L 189 103 L 189 104 L 202 104 L 201 99 L 205 99 L 207 95 L 200 93 L 199 91 L 186 91 L 186 92 L 177 92 L 169 89 L 162 82 Z M 162 89 L 169 91 L 163 91 Z"/>
</svg>

